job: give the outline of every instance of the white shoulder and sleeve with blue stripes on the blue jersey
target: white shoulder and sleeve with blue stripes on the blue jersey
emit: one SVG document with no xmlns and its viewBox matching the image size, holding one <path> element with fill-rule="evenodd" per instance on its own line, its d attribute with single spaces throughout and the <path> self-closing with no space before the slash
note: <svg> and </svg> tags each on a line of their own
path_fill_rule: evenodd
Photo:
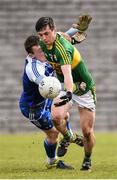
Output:
<svg viewBox="0 0 117 180">
<path fill-rule="evenodd" d="M 30 56 L 26 57 L 28 61 L 26 65 L 26 74 L 30 81 L 38 84 L 39 80 L 45 77 L 45 65 L 46 63 L 40 62 L 39 60 L 32 60 Z"/>
</svg>

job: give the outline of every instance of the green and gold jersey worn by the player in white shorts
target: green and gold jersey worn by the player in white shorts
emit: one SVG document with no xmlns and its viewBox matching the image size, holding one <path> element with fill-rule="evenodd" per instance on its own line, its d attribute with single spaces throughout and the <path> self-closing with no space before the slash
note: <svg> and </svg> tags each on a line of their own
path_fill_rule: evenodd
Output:
<svg viewBox="0 0 117 180">
<path fill-rule="evenodd" d="M 63 36 L 57 34 L 56 40 L 51 49 L 41 41 L 41 48 L 47 61 L 52 65 L 60 82 L 64 82 L 61 66 L 71 64 L 72 77 L 74 82 L 85 82 L 86 92 L 94 86 L 94 81 L 89 73 L 79 51 Z"/>
</svg>

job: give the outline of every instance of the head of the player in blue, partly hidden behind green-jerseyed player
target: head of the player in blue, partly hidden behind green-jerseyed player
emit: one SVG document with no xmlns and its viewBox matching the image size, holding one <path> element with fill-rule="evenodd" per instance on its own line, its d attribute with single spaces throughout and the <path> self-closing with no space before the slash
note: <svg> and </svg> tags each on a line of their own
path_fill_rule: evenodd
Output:
<svg viewBox="0 0 117 180">
<path fill-rule="evenodd" d="M 24 47 L 26 52 L 38 60 L 45 60 L 44 53 L 39 45 L 39 37 L 35 35 L 29 36 L 25 42 Z"/>
</svg>

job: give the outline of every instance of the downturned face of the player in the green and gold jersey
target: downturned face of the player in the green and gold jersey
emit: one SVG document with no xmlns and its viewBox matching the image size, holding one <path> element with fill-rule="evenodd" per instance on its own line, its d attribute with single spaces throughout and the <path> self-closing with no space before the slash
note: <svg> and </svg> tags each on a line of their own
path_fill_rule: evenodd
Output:
<svg viewBox="0 0 117 180">
<path fill-rule="evenodd" d="M 47 47 L 53 45 L 56 37 L 55 34 L 55 29 L 50 29 L 48 25 L 38 32 L 39 37 L 44 41 Z"/>
</svg>

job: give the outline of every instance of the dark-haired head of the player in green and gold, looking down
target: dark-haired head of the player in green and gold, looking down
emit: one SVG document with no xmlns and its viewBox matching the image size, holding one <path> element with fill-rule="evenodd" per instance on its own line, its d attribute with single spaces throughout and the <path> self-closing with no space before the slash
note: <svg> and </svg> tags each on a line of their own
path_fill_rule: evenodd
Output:
<svg viewBox="0 0 117 180">
<path fill-rule="evenodd" d="M 35 25 L 39 37 L 47 46 L 51 46 L 55 41 L 56 28 L 54 20 L 51 17 L 41 17 Z"/>
</svg>

